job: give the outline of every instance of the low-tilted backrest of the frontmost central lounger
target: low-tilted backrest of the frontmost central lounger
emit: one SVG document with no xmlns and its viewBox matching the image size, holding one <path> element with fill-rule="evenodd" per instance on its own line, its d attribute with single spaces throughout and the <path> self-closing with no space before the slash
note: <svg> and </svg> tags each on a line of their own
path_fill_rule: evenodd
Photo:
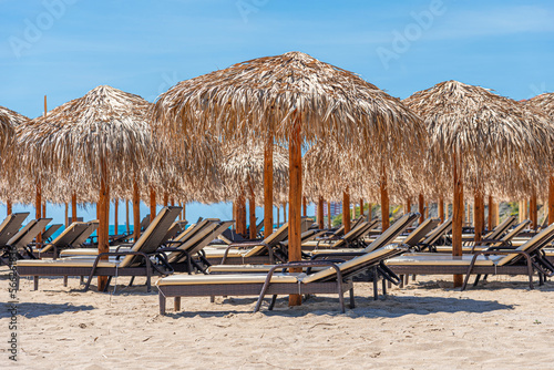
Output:
<svg viewBox="0 0 554 370">
<path fill-rule="evenodd" d="M 412 220 L 413 222 L 413 220 Z M 410 224 L 412 223 L 410 222 Z M 384 247 L 380 247 L 376 250 L 372 250 L 370 253 L 363 254 L 362 256 L 352 258 L 346 263 L 337 265 L 342 273 L 342 276 L 346 275 L 351 275 L 355 274 L 356 271 L 361 271 L 366 270 L 369 266 L 375 266 L 379 264 L 381 260 L 391 258 L 393 256 L 399 255 L 400 253 L 404 251 L 406 249 L 399 248 L 398 246 L 394 245 L 388 245 Z M 332 267 L 322 269 L 318 273 L 310 274 L 301 281 L 304 284 L 309 284 L 314 281 L 324 281 L 326 279 L 332 279 L 336 276 L 336 270 Z"/>
</svg>

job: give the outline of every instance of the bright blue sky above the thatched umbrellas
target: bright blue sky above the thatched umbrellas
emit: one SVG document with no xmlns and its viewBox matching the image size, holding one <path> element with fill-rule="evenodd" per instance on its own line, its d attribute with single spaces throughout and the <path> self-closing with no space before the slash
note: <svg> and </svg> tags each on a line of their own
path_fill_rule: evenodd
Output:
<svg viewBox="0 0 554 370">
<path fill-rule="evenodd" d="M 0 0 L 0 105 L 30 117 L 44 94 L 53 107 L 110 84 L 153 101 L 178 81 L 293 50 L 402 99 L 444 80 L 517 100 L 554 91 L 546 0 Z M 189 208 L 189 219 L 230 214 Z"/>
</svg>

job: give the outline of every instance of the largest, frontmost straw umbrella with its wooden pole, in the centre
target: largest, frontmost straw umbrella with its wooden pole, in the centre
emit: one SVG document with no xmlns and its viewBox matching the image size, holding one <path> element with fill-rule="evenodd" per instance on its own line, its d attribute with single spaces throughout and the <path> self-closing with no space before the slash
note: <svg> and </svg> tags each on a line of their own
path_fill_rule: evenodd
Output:
<svg viewBox="0 0 554 370">
<path fill-rule="evenodd" d="M 293 261 L 301 258 L 304 141 L 336 137 L 375 155 L 384 177 L 398 152 L 418 153 L 425 137 L 420 120 L 400 101 L 355 73 L 301 52 L 258 58 L 179 82 L 160 96 L 154 113 L 166 136 L 194 138 L 195 132 L 209 131 L 223 140 L 246 135 L 288 142 Z M 299 297 L 293 296 L 290 304 L 299 304 Z"/>
</svg>

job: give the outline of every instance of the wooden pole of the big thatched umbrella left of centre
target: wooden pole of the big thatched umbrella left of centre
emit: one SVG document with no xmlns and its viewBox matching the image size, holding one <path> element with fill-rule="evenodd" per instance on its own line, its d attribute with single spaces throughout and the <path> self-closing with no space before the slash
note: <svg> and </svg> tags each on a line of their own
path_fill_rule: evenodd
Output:
<svg viewBox="0 0 554 370">
<path fill-rule="evenodd" d="M 109 223 L 110 223 L 110 188 L 107 185 L 107 168 L 105 160 L 101 161 L 101 178 L 100 178 L 100 194 L 99 203 L 99 254 L 110 251 L 110 240 L 109 240 Z M 101 259 L 106 260 L 107 256 L 101 257 Z M 106 276 L 98 277 L 99 291 L 103 291 L 107 285 Z"/>
</svg>

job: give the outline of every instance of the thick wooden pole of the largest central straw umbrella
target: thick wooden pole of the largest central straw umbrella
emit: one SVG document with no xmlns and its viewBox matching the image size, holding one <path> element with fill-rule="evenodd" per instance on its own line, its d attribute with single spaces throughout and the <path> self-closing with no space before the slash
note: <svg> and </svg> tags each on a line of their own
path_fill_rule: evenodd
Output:
<svg viewBox="0 0 554 370">
<path fill-rule="evenodd" d="M 302 204 L 302 148 L 301 148 L 301 121 L 298 112 L 289 133 L 288 156 L 289 156 L 289 223 L 288 223 L 288 260 L 298 261 L 302 259 L 301 249 L 301 204 Z M 300 269 L 291 269 L 291 273 L 301 273 Z M 301 295 L 290 295 L 289 306 L 301 305 Z"/>
</svg>

